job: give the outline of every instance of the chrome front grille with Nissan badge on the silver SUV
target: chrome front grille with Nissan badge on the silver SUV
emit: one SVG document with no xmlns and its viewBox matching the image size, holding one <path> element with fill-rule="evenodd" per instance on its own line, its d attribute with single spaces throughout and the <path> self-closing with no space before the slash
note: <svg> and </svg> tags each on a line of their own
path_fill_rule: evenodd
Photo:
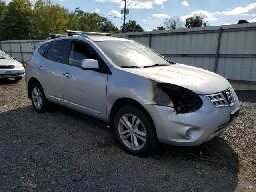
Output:
<svg viewBox="0 0 256 192">
<path fill-rule="evenodd" d="M 207 97 L 216 107 L 228 107 L 235 104 L 236 93 L 234 89 L 230 87 L 230 89 L 224 92 L 207 95 Z"/>
</svg>

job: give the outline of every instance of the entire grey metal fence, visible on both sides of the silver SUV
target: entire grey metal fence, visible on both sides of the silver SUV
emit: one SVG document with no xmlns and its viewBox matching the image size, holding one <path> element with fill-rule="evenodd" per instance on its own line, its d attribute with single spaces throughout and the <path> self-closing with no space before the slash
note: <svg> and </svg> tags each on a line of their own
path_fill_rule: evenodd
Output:
<svg viewBox="0 0 256 192">
<path fill-rule="evenodd" d="M 117 35 L 128 36 L 171 61 L 216 72 L 235 88 L 256 90 L 256 23 Z M 41 41 L 2 41 L 0 50 L 25 62 Z"/>
</svg>

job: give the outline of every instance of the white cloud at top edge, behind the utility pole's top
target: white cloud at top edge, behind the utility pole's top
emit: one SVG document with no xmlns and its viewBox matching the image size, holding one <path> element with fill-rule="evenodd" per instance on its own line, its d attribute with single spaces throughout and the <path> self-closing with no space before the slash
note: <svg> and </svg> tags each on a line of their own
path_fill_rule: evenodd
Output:
<svg viewBox="0 0 256 192">
<path fill-rule="evenodd" d="M 118 3 L 119 7 L 124 7 L 124 1 L 122 0 L 95 0 L 96 2 L 114 2 Z M 142 8 L 153 8 L 153 5 L 162 5 L 164 2 L 169 0 L 140 0 L 138 1 L 132 1 L 130 5 L 128 5 L 128 8 L 134 8 L 134 9 L 142 9 Z"/>
</svg>

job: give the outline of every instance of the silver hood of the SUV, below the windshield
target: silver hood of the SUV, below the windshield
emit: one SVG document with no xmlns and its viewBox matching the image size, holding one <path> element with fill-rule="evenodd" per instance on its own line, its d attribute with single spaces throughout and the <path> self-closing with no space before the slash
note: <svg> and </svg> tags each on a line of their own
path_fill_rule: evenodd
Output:
<svg viewBox="0 0 256 192">
<path fill-rule="evenodd" d="M 183 64 L 127 70 L 153 80 L 182 86 L 199 95 L 222 92 L 230 87 L 228 80 L 216 73 Z"/>
</svg>

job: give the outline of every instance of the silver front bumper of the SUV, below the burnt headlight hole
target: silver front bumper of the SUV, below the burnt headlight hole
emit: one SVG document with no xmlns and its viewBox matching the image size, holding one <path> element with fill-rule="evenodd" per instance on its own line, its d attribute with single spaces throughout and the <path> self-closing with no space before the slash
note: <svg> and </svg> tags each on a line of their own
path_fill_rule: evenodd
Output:
<svg viewBox="0 0 256 192">
<path fill-rule="evenodd" d="M 143 104 L 152 117 L 158 140 L 175 146 L 197 146 L 211 140 L 228 128 L 230 113 L 240 108 L 239 100 L 232 107 L 215 107 L 206 96 L 200 96 L 200 109 L 176 114 L 173 108 L 154 104 Z"/>
</svg>

